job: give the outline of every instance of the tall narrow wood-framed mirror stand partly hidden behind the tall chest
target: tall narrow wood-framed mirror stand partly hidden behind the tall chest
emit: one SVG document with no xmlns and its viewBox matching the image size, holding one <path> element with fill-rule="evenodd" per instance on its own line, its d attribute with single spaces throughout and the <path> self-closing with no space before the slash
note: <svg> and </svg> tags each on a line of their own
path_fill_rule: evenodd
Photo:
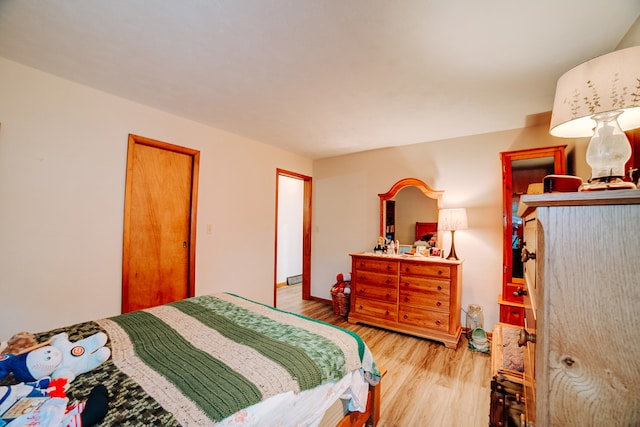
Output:
<svg viewBox="0 0 640 427">
<path fill-rule="evenodd" d="M 520 196 L 530 184 L 542 186 L 543 178 L 551 174 L 566 174 L 566 145 L 532 148 L 500 153 L 502 160 L 502 224 L 503 265 L 502 295 L 499 297 L 500 322 L 523 325 L 524 268 L 522 219 L 517 216 Z M 542 192 L 542 189 L 539 189 Z"/>
</svg>

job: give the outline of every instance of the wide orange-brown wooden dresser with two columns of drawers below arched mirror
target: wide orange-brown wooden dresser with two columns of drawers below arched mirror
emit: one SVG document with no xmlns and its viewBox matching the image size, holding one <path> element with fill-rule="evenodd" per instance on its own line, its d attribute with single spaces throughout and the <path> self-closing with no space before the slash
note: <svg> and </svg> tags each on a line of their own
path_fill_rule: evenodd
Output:
<svg viewBox="0 0 640 427">
<path fill-rule="evenodd" d="M 460 339 L 462 261 L 351 254 L 350 323 L 440 341 Z"/>
</svg>

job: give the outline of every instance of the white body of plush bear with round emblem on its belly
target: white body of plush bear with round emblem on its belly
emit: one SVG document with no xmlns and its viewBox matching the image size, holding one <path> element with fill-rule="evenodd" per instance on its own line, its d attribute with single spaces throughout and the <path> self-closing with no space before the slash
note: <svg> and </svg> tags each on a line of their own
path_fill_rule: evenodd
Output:
<svg viewBox="0 0 640 427">
<path fill-rule="evenodd" d="M 70 342 L 66 333 L 51 337 L 51 347 L 60 350 L 62 363 L 51 374 L 52 378 L 66 378 L 69 382 L 76 376 L 97 368 L 111 356 L 104 345 L 107 335 L 98 332 L 85 339 Z"/>
</svg>

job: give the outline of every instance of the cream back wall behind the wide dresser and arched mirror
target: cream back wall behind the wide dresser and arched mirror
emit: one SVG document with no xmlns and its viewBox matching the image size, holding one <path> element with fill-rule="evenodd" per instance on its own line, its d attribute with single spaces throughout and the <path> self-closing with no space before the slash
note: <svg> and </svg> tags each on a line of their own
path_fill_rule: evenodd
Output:
<svg viewBox="0 0 640 427">
<path fill-rule="evenodd" d="M 499 319 L 497 299 L 502 286 L 499 153 L 560 144 L 569 144 L 571 150 L 574 143 L 550 136 L 547 121 L 523 129 L 314 162 L 311 294 L 330 298 L 335 272 L 351 270 L 348 254 L 375 245 L 380 234 L 377 195 L 402 178 L 414 177 L 435 190 L 444 190 L 444 208 L 467 208 L 469 229 L 455 235 L 456 252 L 464 259 L 462 306 L 466 309 L 469 304 L 480 304 L 485 328 L 491 329 Z M 584 147 L 579 149 L 584 152 Z M 579 166 L 587 174 L 583 178 L 588 178 L 589 170 Z M 450 233 L 443 233 L 445 253 L 450 244 Z M 461 320 L 464 325 L 463 313 Z"/>
</svg>

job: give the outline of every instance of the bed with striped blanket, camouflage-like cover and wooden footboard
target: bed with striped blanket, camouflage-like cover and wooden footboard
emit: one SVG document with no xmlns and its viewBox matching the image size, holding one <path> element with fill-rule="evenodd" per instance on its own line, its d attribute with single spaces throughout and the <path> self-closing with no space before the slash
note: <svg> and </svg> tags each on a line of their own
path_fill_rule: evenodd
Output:
<svg viewBox="0 0 640 427">
<path fill-rule="evenodd" d="M 355 333 L 228 293 L 36 334 L 105 332 L 111 358 L 67 391 L 107 387 L 100 425 L 375 425 L 380 369 Z M 338 419 L 327 421 L 336 408 Z M 335 415 L 334 415 L 335 417 Z M 324 421 L 323 421 L 324 418 Z"/>
</svg>

